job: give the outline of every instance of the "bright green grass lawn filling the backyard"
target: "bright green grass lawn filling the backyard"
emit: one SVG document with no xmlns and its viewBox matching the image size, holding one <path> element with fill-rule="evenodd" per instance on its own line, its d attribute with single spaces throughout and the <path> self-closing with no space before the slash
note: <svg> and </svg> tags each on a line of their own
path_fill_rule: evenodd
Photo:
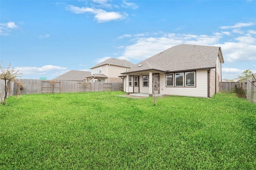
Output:
<svg viewBox="0 0 256 170">
<path fill-rule="evenodd" d="M 256 169 L 256 105 L 212 98 L 34 94 L 0 106 L 0 169 Z"/>
</svg>

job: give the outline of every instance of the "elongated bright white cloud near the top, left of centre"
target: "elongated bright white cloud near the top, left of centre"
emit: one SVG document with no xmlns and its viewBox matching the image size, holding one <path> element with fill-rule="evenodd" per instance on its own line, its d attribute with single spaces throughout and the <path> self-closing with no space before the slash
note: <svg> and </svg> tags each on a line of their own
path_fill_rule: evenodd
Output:
<svg viewBox="0 0 256 170">
<path fill-rule="evenodd" d="M 98 22 L 108 22 L 112 20 L 121 20 L 126 18 L 128 15 L 126 13 L 120 13 L 120 12 L 107 12 L 102 9 L 96 9 L 96 8 L 88 8 L 88 7 L 77 7 L 73 5 L 69 5 L 66 8 L 67 10 L 70 10 L 71 12 L 74 12 L 75 14 L 84 14 L 84 13 L 91 13 L 94 14 L 94 18 Z"/>
</svg>

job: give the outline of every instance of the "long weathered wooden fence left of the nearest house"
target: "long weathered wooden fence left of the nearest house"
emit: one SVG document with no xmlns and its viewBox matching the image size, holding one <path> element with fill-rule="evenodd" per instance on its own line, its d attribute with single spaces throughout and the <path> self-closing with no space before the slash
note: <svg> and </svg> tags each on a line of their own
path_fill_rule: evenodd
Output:
<svg viewBox="0 0 256 170">
<path fill-rule="evenodd" d="M 38 93 L 70 93 L 70 92 L 103 92 L 103 91 L 120 91 L 123 90 L 122 83 L 106 82 L 82 82 L 56 80 L 54 86 L 50 84 L 51 80 L 37 79 L 18 79 L 23 82 L 21 94 L 38 94 Z M 8 89 L 9 96 L 19 94 L 14 82 L 11 82 Z M 4 80 L 0 80 L 0 95 L 4 98 Z"/>
</svg>

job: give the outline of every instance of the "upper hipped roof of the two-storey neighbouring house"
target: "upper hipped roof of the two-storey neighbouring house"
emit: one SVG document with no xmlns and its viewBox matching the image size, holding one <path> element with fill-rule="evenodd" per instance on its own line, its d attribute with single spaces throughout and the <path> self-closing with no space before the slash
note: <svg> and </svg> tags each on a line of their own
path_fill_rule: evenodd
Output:
<svg viewBox="0 0 256 170">
<path fill-rule="evenodd" d="M 91 67 L 90 69 L 96 68 L 96 67 L 99 67 L 99 66 L 102 66 L 102 65 L 105 65 L 105 64 L 111 64 L 111 65 L 123 66 L 123 67 L 129 67 L 129 68 L 131 68 L 135 65 L 135 64 L 131 63 L 130 61 L 127 61 L 127 60 L 124 60 L 124 59 L 120 60 L 120 59 L 115 59 L 115 58 L 109 58 L 106 61 L 103 61 L 102 63 Z"/>
</svg>

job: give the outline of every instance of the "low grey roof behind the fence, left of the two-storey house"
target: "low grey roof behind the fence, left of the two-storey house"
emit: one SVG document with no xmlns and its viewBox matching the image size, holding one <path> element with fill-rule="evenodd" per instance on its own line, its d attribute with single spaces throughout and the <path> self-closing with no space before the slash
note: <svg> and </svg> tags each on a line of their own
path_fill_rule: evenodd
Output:
<svg viewBox="0 0 256 170">
<path fill-rule="evenodd" d="M 91 75 L 90 71 L 70 70 L 53 80 L 70 80 L 70 81 L 82 81 L 84 76 Z"/>
</svg>

